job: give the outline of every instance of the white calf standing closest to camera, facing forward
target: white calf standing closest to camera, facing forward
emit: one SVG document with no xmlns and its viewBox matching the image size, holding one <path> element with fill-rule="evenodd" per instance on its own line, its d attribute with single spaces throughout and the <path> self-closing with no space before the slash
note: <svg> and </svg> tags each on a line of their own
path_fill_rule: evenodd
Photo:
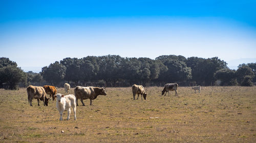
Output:
<svg viewBox="0 0 256 143">
<path fill-rule="evenodd" d="M 76 97 L 73 94 L 70 95 L 61 95 L 61 94 L 57 94 L 54 95 L 55 98 L 57 98 L 56 101 L 56 107 L 59 110 L 59 114 L 60 114 L 60 118 L 59 120 L 62 120 L 62 115 L 63 115 L 63 111 L 64 110 L 68 110 L 68 118 L 67 120 L 69 120 L 70 117 L 70 112 L 71 109 L 70 107 L 72 107 L 73 112 L 74 112 L 74 120 L 76 120 Z"/>
</svg>

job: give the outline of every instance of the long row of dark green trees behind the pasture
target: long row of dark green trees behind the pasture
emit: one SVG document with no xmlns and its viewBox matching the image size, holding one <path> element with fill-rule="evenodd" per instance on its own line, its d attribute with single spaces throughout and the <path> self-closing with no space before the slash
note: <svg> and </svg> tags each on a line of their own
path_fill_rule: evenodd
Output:
<svg viewBox="0 0 256 143">
<path fill-rule="evenodd" d="M 122 58 L 119 55 L 65 58 L 43 67 L 40 73 L 25 73 L 9 58 L 0 58 L 0 88 L 17 89 L 18 85 L 51 84 L 62 87 L 102 86 L 129 87 L 132 84 L 162 86 L 177 82 L 182 86 L 243 85 L 256 82 L 256 63 L 241 64 L 231 70 L 227 63 L 214 58 L 185 58 L 182 55 L 161 55 L 150 58 Z"/>
</svg>

